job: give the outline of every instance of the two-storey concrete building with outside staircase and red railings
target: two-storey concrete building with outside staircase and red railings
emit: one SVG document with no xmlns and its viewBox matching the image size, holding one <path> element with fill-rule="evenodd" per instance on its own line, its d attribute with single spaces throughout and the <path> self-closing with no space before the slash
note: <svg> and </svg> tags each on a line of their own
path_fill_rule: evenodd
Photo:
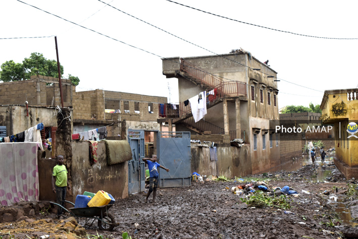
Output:
<svg viewBox="0 0 358 239">
<path fill-rule="evenodd" d="M 178 79 L 180 104 L 177 115 L 167 114 L 159 122 L 190 130 L 192 139 L 208 140 L 208 134 L 220 135 L 214 140 L 219 144 L 244 139 L 250 147 L 250 166 L 243 166 L 250 167 L 246 173 L 266 172 L 281 164 L 279 135 L 270 125 L 270 120 L 279 119 L 276 71 L 242 50 L 162 61 L 163 74 Z M 215 99 L 209 100 L 204 119 L 194 122 L 184 102 L 204 90 L 216 90 Z"/>
</svg>

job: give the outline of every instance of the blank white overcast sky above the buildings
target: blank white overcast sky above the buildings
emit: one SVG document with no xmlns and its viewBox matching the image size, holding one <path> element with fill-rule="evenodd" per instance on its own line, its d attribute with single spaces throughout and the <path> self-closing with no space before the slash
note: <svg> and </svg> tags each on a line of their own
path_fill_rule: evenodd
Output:
<svg viewBox="0 0 358 239">
<path fill-rule="evenodd" d="M 278 72 L 279 108 L 320 105 L 324 90 L 358 86 L 357 1 L 173 0 L 212 14 L 166 0 L 103 1 L 112 7 L 99 0 L 0 1 L 0 64 L 21 63 L 33 52 L 56 60 L 56 35 L 62 78 L 78 76 L 76 91 L 157 95 L 176 103 L 178 82 L 162 74 L 161 58 L 240 47 Z M 40 36 L 48 37 L 4 39 Z"/>
</svg>

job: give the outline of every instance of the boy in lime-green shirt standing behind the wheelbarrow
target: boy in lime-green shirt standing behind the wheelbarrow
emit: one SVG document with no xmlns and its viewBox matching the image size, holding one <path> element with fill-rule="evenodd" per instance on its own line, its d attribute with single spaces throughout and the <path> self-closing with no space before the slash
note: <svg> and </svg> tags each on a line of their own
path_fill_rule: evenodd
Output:
<svg viewBox="0 0 358 239">
<path fill-rule="evenodd" d="M 64 163 L 64 157 L 62 155 L 57 156 L 57 165 L 54 167 L 52 173 L 52 190 L 56 193 L 56 202 L 57 204 L 65 207 L 66 200 L 66 188 L 71 190 L 71 185 L 68 183 L 67 178 L 67 169 Z M 63 209 L 60 206 L 57 206 L 57 217 L 64 217 L 62 215 Z"/>
</svg>

